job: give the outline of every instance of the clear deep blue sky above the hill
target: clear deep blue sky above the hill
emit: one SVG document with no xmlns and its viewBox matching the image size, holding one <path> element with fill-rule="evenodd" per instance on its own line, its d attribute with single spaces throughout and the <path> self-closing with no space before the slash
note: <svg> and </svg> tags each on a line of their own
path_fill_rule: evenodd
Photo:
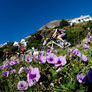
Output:
<svg viewBox="0 0 92 92">
<path fill-rule="evenodd" d="M 0 0 L 0 44 L 20 41 L 44 24 L 92 16 L 92 0 Z"/>
</svg>

